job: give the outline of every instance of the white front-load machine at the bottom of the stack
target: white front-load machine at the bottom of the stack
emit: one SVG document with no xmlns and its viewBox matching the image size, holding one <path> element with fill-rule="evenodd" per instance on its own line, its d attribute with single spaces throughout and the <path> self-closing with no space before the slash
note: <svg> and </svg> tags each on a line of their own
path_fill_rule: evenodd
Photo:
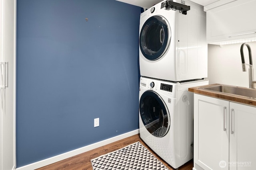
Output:
<svg viewBox="0 0 256 170">
<path fill-rule="evenodd" d="M 173 168 L 193 158 L 193 93 L 188 88 L 207 84 L 140 77 L 140 138 Z"/>
</svg>

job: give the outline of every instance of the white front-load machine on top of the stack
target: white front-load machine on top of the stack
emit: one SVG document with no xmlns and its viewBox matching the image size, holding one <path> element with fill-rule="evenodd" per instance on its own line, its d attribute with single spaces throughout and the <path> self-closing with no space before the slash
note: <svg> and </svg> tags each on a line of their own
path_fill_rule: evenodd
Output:
<svg viewBox="0 0 256 170">
<path fill-rule="evenodd" d="M 183 1 L 183 0 L 182 0 Z M 183 81 L 207 77 L 206 13 L 185 0 L 187 15 L 154 5 L 140 15 L 140 75 Z M 173 0 L 181 3 L 181 0 Z"/>
</svg>

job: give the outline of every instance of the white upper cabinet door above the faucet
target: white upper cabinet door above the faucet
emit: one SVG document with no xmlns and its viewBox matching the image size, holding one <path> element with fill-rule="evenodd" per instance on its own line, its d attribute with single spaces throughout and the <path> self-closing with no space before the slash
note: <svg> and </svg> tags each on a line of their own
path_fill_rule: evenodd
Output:
<svg viewBox="0 0 256 170">
<path fill-rule="evenodd" d="M 256 37 L 256 0 L 236 0 L 206 11 L 208 43 Z"/>
</svg>

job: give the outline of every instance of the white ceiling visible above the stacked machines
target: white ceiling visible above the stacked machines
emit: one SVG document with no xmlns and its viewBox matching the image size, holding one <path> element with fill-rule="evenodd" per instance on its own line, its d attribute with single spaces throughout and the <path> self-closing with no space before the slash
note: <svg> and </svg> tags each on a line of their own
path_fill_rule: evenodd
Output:
<svg viewBox="0 0 256 170">
<path fill-rule="evenodd" d="M 117 1 L 149 9 L 153 5 L 158 4 L 163 0 L 117 0 Z M 191 0 L 191 1 L 196 2 L 197 4 L 200 4 L 202 6 L 206 6 L 208 4 L 212 4 L 213 2 L 217 2 L 220 0 Z"/>
</svg>

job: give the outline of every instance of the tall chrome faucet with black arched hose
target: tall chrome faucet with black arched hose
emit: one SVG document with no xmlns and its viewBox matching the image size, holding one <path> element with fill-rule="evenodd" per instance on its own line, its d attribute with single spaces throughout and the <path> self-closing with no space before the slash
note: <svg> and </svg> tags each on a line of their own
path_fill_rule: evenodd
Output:
<svg viewBox="0 0 256 170">
<path fill-rule="evenodd" d="M 244 61 L 244 52 L 243 52 L 244 45 L 246 45 L 246 47 L 248 48 L 249 62 L 250 62 L 249 64 L 246 64 Z M 243 71 L 246 71 L 246 65 L 249 65 L 249 69 L 248 69 L 249 70 L 249 88 L 254 88 L 254 84 L 256 83 L 256 80 L 253 80 L 254 79 L 254 70 L 253 70 L 253 66 L 252 66 L 252 50 L 251 50 L 250 45 L 247 43 L 243 43 L 240 48 L 240 53 L 241 53 L 241 58 L 242 58 Z"/>
</svg>

